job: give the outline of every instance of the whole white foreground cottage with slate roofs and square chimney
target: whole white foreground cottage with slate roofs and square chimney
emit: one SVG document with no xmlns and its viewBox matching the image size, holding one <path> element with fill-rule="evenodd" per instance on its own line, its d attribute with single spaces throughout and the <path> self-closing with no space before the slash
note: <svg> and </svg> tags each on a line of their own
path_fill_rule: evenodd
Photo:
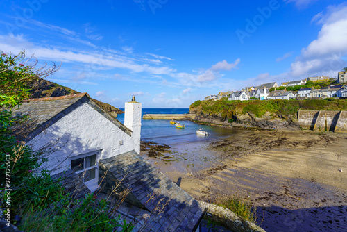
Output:
<svg viewBox="0 0 347 232">
<path fill-rule="evenodd" d="M 128 190 L 128 208 L 137 207 L 143 217 L 121 210 L 115 216 L 134 219 L 133 231 L 198 231 L 206 206 L 139 156 L 141 112 L 135 97 L 125 103 L 124 124 L 86 93 L 29 99 L 13 113 L 30 119 L 13 131 L 34 150 L 47 151 L 48 161 L 41 168 L 52 176 L 65 174 L 70 192 L 71 183 L 107 199 Z"/>
</svg>

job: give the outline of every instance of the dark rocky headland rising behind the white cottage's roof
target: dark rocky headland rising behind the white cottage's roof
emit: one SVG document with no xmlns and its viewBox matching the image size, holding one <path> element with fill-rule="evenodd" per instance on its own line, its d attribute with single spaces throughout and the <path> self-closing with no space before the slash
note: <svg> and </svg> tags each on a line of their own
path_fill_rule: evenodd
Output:
<svg viewBox="0 0 347 232">
<path fill-rule="evenodd" d="M 78 94 L 75 90 L 71 88 L 58 85 L 57 83 L 53 83 L 51 81 L 44 80 L 42 78 L 37 78 L 30 86 L 32 98 L 40 98 L 40 97 L 60 97 L 69 94 Z M 117 114 L 124 113 L 123 110 L 119 110 L 119 108 L 115 108 L 108 103 L 103 103 L 96 99 L 93 99 L 95 103 L 97 103 L 103 110 L 109 113 L 112 117 L 117 117 Z"/>
</svg>

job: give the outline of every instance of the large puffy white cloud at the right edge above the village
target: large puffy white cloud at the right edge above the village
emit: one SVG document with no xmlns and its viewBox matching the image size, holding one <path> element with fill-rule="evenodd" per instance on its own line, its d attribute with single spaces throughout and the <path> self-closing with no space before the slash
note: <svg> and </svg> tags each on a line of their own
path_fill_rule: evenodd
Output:
<svg viewBox="0 0 347 232">
<path fill-rule="evenodd" d="M 344 67 L 342 57 L 347 54 L 347 6 L 330 6 L 326 13 L 319 13 L 313 19 L 321 24 L 317 39 L 301 50 L 294 63 L 291 63 L 290 75 L 294 77 L 310 75 L 336 76 Z"/>
</svg>

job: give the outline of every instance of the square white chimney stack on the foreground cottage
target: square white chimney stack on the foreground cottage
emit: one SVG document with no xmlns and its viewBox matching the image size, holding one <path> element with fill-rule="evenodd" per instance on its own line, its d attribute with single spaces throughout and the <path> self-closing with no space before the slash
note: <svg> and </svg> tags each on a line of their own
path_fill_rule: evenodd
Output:
<svg viewBox="0 0 347 232">
<path fill-rule="evenodd" d="M 131 132 L 131 139 L 135 144 L 135 151 L 139 154 L 139 143 L 141 139 L 141 118 L 142 103 L 135 101 L 135 96 L 130 102 L 126 102 L 124 109 L 124 126 L 128 127 Z"/>
</svg>

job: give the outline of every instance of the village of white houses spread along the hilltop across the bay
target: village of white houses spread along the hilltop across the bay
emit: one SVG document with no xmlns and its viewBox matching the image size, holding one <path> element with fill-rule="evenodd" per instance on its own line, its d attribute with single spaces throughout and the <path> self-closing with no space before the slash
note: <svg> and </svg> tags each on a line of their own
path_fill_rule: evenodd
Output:
<svg viewBox="0 0 347 232">
<path fill-rule="evenodd" d="M 287 81 L 278 85 L 276 82 L 243 88 L 235 92 L 219 92 L 217 95 L 205 97 L 214 101 L 228 98 L 228 101 L 246 101 L 252 99 L 325 99 L 328 97 L 347 97 L 347 71 L 344 68 L 337 78 L 329 76 L 309 77 L 304 80 Z"/>
</svg>

